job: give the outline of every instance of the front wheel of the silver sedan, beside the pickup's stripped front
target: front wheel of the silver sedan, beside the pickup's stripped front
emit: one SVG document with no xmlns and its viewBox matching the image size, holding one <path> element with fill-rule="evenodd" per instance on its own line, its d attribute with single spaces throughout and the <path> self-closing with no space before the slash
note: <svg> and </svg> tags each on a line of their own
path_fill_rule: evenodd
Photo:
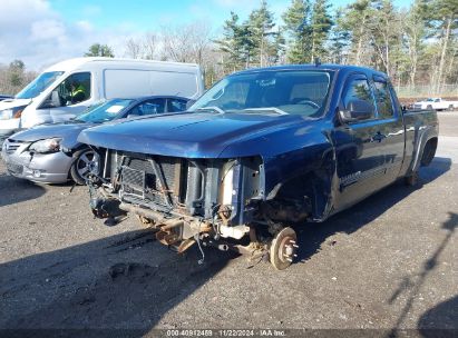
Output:
<svg viewBox="0 0 458 338">
<path fill-rule="evenodd" d="M 74 162 L 70 167 L 71 179 L 77 185 L 86 185 L 89 173 L 99 173 L 100 158 L 92 149 L 81 149 L 74 153 Z"/>
</svg>

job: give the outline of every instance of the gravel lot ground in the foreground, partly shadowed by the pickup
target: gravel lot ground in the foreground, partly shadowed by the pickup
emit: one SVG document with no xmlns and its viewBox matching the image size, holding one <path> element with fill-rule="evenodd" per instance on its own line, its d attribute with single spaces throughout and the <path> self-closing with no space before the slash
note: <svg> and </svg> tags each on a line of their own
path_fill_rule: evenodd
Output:
<svg viewBox="0 0 458 338">
<path fill-rule="evenodd" d="M 111 228 L 92 219 L 85 187 L 22 181 L 0 161 L 0 328 L 458 335 L 458 113 L 440 120 L 420 187 L 396 183 L 304 225 L 301 259 L 281 272 L 211 249 L 199 266 L 196 248 L 177 256 L 134 217 Z"/>
</svg>

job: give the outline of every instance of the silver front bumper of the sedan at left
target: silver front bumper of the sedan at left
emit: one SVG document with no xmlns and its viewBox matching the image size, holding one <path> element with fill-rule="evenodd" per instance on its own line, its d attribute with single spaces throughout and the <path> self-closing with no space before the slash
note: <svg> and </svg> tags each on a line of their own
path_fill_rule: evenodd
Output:
<svg viewBox="0 0 458 338">
<path fill-rule="evenodd" d="M 61 151 L 31 155 L 27 151 L 29 143 L 23 143 L 14 152 L 8 153 L 7 142 L 8 140 L 3 145 L 1 157 L 10 175 L 43 183 L 62 183 L 68 180 L 71 157 Z"/>
</svg>

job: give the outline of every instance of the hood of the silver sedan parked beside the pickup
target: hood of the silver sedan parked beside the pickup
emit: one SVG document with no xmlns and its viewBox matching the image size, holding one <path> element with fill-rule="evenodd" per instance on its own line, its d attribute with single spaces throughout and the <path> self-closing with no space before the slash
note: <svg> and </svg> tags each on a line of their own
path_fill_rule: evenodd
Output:
<svg viewBox="0 0 458 338">
<path fill-rule="evenodd" d="M 62 138 L 62 146 L 72 148 L 77 143 L 77 138 L 81 130 L 90 127 L 94 127 L 94 125 L 71 122 L 40 125 L 19 131 L 10 138 L 23 142 L 35 142 L 49 138 Z"/>
</svg>

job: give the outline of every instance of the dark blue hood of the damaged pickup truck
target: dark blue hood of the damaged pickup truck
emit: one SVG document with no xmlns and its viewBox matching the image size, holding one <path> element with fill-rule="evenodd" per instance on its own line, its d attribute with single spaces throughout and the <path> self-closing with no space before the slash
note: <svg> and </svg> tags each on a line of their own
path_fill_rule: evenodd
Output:
<svg viewBox="0 0 458 338">
<path fill-rule="evenodd" d="M 99 126 L 80 133 L 78 141 L 108 149 L 187 158 L 259 155 L 282 130 L 308 128 L 300 116 L 260 113 L 182 113 Z M 226 151 L 225 151 L 226 150 Z M 272 149 L 271 149 L 272 150 Z M 279 150 L 280 151 L 280 150 Z M 224 152 L 224 155 L 223 155 Z"/>
</svg>

